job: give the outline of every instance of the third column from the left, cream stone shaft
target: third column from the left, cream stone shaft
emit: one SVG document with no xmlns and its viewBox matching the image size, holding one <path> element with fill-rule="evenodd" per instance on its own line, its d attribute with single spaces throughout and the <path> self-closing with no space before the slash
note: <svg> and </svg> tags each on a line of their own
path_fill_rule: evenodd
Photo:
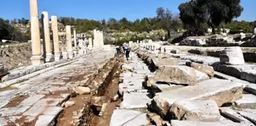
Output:
<svg viewBox="0 0 256 126">
<path fill-rule="evenodd" d="M 56 16 L 52 16 L 52 30 L 53 30 L 53 49 L 55 61 L 59 61 L 61 52 L 59 50 L 59 30 L 58 20 Z"/>
</svg>

